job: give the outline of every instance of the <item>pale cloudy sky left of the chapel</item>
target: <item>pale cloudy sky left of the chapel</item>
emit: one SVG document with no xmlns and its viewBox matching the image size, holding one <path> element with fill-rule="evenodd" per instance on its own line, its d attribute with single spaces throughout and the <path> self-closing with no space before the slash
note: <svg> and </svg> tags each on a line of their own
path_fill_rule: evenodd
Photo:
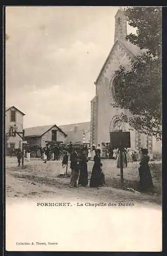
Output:
<svg viewBox="0 0 167 256">
<path fill-rule="evenodd" d="M 90 121 L 118 8 L 6 7 L 6 106 L 26 114 L 25 128 Z"/>
</svg>

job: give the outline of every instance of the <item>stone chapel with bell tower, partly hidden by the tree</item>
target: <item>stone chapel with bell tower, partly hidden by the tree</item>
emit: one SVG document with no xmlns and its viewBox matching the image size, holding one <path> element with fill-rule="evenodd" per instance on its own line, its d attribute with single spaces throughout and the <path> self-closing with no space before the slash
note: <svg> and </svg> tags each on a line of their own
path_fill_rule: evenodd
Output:
<svg viewBox="0 0 167 256">
<path fill-rule="evenodd" d="M 110 142 L 110 132 L 122 129 L 130 132 L 131 147 L 139 150 L 141 147 L 147 147 L 152 157 L 153 152 L 161 151 L 161 143 L 154 137 L 140 134 L 137 131 L 130 131 L 127 123 L 118 127 L 119 115 L 123 112 L 111 106 L 114 100 L 115 71 L 119 67 L 125 66 L 131 68 L 131 60 L 136 58 L 141 50 L 129 41 L 125 40 L 127 35 L 127 18 L 124 11 L 120 8 L 115 15 L 115 35 L 114 44 L 100 71 L 96 85 L 96 95 L 91 100 L 91 122 L 90 122 L 90 146 L 92 144 L 101 144 Z M 137 86 L 137 85 L 136 85 Z M 128 111 L 125 114 L 130 115 Z"/>
</svg>

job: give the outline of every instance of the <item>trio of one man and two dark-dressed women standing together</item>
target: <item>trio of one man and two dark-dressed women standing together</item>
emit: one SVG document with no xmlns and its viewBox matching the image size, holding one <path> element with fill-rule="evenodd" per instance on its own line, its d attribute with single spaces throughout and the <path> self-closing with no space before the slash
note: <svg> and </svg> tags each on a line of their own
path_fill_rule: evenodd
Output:
<svg viewBox="0 0 167 256">
<path fill-rule="evenodd" d="M 100 150 L 96 150 L 96 155 L 94 156 L 93 161 L 94 165 L 91 172 L 89 187 L 103 186 L 105 184 L 105 178 L 102 170 L 103 164 L 101 163 Z M 82 148 L 81 154 L 78 153 L 77 149 L 73 148 L 73 152 L 70 154 L 70 187 L 88 186 L 87 162 L 88 156 L 86 148 Z"/>
</svg>

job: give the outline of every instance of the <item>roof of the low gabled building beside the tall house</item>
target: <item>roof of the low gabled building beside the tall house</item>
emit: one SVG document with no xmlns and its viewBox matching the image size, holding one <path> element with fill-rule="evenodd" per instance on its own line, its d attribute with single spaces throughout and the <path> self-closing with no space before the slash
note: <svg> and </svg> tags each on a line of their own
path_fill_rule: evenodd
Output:
<svg viewBox="0 0 167 256">
<path fill-rule="evenodd" d="M 31 137 L 31 136 L 42 136 L 44 133 L 49 131 L 53 126 L 56 126 L 62 133 L 62 129 L 58 127 L 56 124 L 51 124 L 51 125 L 44 125 L 44 126 L 35 126 L 35 127 L 30 127 L 25 129 L 25 137 Z M 64 135 L 66 135 L 64 133 Z"/>
</svg>

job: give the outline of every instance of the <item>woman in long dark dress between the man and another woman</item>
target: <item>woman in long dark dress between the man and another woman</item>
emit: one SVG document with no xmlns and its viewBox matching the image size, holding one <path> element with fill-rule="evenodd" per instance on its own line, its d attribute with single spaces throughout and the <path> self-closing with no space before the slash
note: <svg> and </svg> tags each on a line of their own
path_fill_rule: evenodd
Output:
<svg viewBox="0 0 167 256">
<path fill-rule="evenodd" d="M 81 185 L 83 187 L 86 187 L 88 185 L 87 162 L 88 158 L 86 156 L 86 150 L 85 148 L 82 148 L 82 153 L 80 156 L 80 175 L 78 185 Z"/>
</svg>

